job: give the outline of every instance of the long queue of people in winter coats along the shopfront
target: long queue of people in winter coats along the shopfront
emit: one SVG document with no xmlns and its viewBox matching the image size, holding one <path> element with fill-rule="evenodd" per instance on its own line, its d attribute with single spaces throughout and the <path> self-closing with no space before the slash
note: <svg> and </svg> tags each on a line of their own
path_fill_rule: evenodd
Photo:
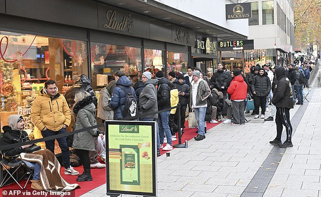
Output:
<svg viewBox="0 0 321 197">
<path fill-rule="evenodd" d="M 286 69 L 279 66 L 274 69 L 275 71 L 272 71 L 269 65 L 263 65 L 262 68 L 256 65 L 251 67 L 251 71 L 244 76 L 242 70 L 235 69 L 231 72 L 223 63 L 219 63 L 218 71 L 210 79 L 199 68 L 188 67 L 185 76 L 183 73 L 171 71 L 165 78 L 163 71 L 155 72 L 155 69 L 149 69 L 132 81 L 123 71 L 117 71 L 113 76 L 108 77 L 108 85 L 100 91 L 97 117 L 103 122 L 126 118 L 128 116 L 128 113 L 125 113 L 126 94 L 130 92 L 135 110 L 141 115 L 140 120 L 157 122 L 157 156 L 160 156 L 160 149 L 164 151 L 173 149 L 172 141 L 176 140 L 175 133 L 184 132 L 186 109 L 189 108 L 195 113 L 197 135 L 194 139 L 199 141 L 206 138 L 206 121 L 219 123 L 222 121 L 222 116 L 225 118 L 224 123 L 245 124 L 245 113 L 250 113 L 246 109 L 246 101 L 248 95 L 252 95 L 255 103 L 255 110 L 252 113 L 254 118 L 259 118 L 259 108 L 261 108 L 261 119 L 272 121 L 275 116 L 277 134 L 270 143 L 280 147 L 292 147 L 289 111 L 296 103 L 296 99 L 297 105 L 303 105 L 302 89 L 306 84 L 305 71 L 308 68 L 304 72 L 293 65 L 289 65 Z M 173 89 L 177 90 L 176 95 L 173 94 Z M 74 93 L 72 106 L 68 106 L 66 98 L 58 92 L 53 80 L 45 83 L 41 94 L 33 102 L 31 118 L 35 126 L 41 130 L 43 137 L 66 133 L 66 128 L 71 124 L 71 117 L 74 117 L 74 130 L 97 125 L 95 96 L 89 93 L 88 88 Z M 181 111 L 178 113 L 176 110 L 171 115 L 174 119 L 172 122 L 174 124 L 180 122 L 180 128 L 170 127 L 173 96 L 176 96 L 177 103 L 181 104 Z M 174 105 L 176 106 L 177 103 Z M 272 106 L 271 115 L 265 119 L 265 111 L 269 109 L 269 103 Z M 157 114 L 157 111 L 165 109 L 169 110 Z M 154 113 L 150 115 L 150 112 Z M 24 122 L 21 116 L 10 116 L 8 123 L 9 125 L 3 128 L 5 134 L 0 139 L 2 144 L 29 140 L 28 135 L 23 131 Z M 287 139 L 284 143 L 280 141 L 283 125 L 287 131 Z M 73 136 L 72 147 L 76 150 L 84 168 L 80 175 L 70 166 L 66 137 L 56 138 L 56 140 L 62 152 L 64 174 L 78 175 L 76 181 L 92 181 L 94 177 L 91 175 L 91 168 L 105 167 L 97 160 L 98 156 L 103 161 L 106 159 L 105 134 L 99 129 L 89 129 Z M 46 149 L 54 157 L 55 140 L 47 140 L 45 143 Z M 22 150 L 28 146 L 30 144 L 5 150 L 4 154 L 7 156 L 21 154 Z M 44 190 L 44 183 L 39 180 L 39 171 L 42 166 L 38 163 L 31 163 L 30 166 L 34 169 L 31 188 Z"/>
</svg>

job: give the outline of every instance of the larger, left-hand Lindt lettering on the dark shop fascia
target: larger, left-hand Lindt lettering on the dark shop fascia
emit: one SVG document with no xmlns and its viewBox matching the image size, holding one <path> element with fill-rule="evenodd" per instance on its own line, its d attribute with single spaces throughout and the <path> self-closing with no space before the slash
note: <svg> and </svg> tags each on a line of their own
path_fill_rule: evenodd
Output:
<svg viewBox="0 0 321 197">
<path fill-rule="evenodd" d="M 107 23 L 103 25 L 103 27 L 118 31 L 126 31 L 129 33 L 133 33 L 133 20 L 131 18 L 131 14 L 128 16 L 124 16 L 123 20 L 117 21 L 116 11 L 108 10 L 106 12 Z"/>
</svg>

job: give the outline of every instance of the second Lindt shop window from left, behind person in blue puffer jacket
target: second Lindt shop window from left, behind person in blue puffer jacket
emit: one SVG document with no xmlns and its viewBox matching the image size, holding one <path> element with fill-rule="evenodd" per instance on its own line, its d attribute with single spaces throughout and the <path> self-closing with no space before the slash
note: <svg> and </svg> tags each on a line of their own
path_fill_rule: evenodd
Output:
<svg viewBox="0 0 321 197">
<path fill-rule="evenodd" d="M 142 74 L 141 48 L 93 42 L 90 51 L 94 89 L 106 86 L 116 71 L 128 77 Z"/>
</svg>

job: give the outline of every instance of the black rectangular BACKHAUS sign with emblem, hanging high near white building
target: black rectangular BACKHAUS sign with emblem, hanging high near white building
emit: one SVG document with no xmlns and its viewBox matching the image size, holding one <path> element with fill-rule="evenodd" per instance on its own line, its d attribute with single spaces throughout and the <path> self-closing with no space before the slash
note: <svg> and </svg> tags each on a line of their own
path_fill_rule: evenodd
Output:
<svg viewBox="0 0 321 197">
<path fill-rule="evenodd" d="M 226 20 L 248 19 L 252 17 L 251 3 L 244 4 L 226 4 Z"/>
</svg>

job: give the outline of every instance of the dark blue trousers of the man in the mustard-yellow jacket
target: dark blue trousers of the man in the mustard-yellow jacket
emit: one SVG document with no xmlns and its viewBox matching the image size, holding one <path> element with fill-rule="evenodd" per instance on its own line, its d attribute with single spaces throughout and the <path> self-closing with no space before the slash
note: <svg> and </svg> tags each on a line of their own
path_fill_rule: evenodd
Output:
<svg viewBox="0 0 321 197">
<path fill-rule="evenodd" d="M 47 129 L 45 131 L 41 131 L 41 134 L 43 135 L 43 137 L 58 135 L 60 133 L 66 133 L 66 129 L 62 128 L 59 131 L 51 131 Z M 69 153 L 69 147 L 67 145 L 66 138 L 67 137 L 56 138 L 56 140 L 58 141 L 59 147 L 61 149 L 61 156 L 62 156 L 62 161 L 64 163 L 65 169 L 70 168 L 70 153 Z M 46 149 L 48 149 L 53 154 L 55 154 L 55 140 L 54 139 L 48 140 L 48 141 L 45 141 L 45 143 L 46 143 Z"/>
</svg>

